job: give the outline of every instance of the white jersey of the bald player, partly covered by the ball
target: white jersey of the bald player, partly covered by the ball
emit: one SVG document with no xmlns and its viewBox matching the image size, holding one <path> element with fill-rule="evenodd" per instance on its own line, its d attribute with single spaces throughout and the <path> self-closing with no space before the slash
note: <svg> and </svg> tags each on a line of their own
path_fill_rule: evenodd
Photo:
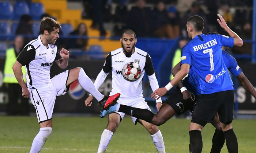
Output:
<svg viewBox="0 0 256 153">
<path fill-rule="evenodd" d="M 128 62 L 138 63 L 142 72 L 137 81 L 129 82 L 122 75 L 122 68 Z M 108 73 L 112 71 L 112 91 L 110 95 L 121 93 L 119 99 L 143 98 L 142 79 L 145 74 L 153 75 L 155 73 L 152 61 L 147 52 L 135 47 L 135 52 L 130 56 L 125 56 L 123 48 L 118 48 L 110 52 L 103 66 L 103 71 Z M 129 98 L 129 99 L 128 99 Z"/>
</svg>

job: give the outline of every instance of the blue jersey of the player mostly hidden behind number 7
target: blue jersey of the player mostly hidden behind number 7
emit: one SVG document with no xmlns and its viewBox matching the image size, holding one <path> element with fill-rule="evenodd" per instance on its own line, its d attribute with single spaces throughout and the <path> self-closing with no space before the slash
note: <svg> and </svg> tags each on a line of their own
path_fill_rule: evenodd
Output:
<svg viewBox="0 0 256 153">
<path fill-rule="evenodd" d="M 233 56 L 229 55 L 229 53 L 223 50 L 222 50 L 222 59 L 227 69 L 234 76 L 238 76 L 242 72 L 241 68 L 237 65 L 236 59 Z M 197 99 L 202 91 L 200 90 L 200 84 L 199 84 L 200 82 L 195 76 L 197 75 L 192 75 L 192 77 L 188 75 L 183 80 L 183 84 L 188 89 L 188 91 L 190 91 L 195 95 L 195 98 Z"/>
</svg>

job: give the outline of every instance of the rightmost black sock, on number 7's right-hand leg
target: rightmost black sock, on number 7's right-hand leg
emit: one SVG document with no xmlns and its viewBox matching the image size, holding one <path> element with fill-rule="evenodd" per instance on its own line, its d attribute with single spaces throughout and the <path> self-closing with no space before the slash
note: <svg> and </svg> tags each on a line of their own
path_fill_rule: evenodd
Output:
<svg viewBox="0 0 256 153">
<path fill-rule="evenodd" d="M 223 133 L 226 138 L 226 145 L 229 153 L 238 153 L 237 137 L 233 129 L 229 129 Z"/>
</svg>

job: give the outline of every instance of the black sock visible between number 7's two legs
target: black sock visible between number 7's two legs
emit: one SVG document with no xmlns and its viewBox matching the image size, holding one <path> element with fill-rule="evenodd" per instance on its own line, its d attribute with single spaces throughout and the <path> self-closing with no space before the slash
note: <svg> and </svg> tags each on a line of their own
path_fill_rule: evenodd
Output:
<svg viewBox="0 0 256 153">
<path fill-rule="evenodd" d="M 215 129 L 212 137 L 211 153 L 220 153 L 225 143 L 225 136 L 222 130 Z"/>
</svg>

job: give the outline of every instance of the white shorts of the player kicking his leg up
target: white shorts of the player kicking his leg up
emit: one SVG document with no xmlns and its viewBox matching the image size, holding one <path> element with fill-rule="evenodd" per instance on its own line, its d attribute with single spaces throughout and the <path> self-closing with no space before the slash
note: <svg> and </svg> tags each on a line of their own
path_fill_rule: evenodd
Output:
<svg viewBox="0 0 256 153">
<path fill-rule="evenodd" d="M 68 91 L 66 87 L 68 75 L 69 70 L 54 76 L 50 86 L 46 89 L 29 89 L 30 99 L 35 107 L 39 123 L 52 119 L 56 96 L 64 95 Z"/>
</svg>

